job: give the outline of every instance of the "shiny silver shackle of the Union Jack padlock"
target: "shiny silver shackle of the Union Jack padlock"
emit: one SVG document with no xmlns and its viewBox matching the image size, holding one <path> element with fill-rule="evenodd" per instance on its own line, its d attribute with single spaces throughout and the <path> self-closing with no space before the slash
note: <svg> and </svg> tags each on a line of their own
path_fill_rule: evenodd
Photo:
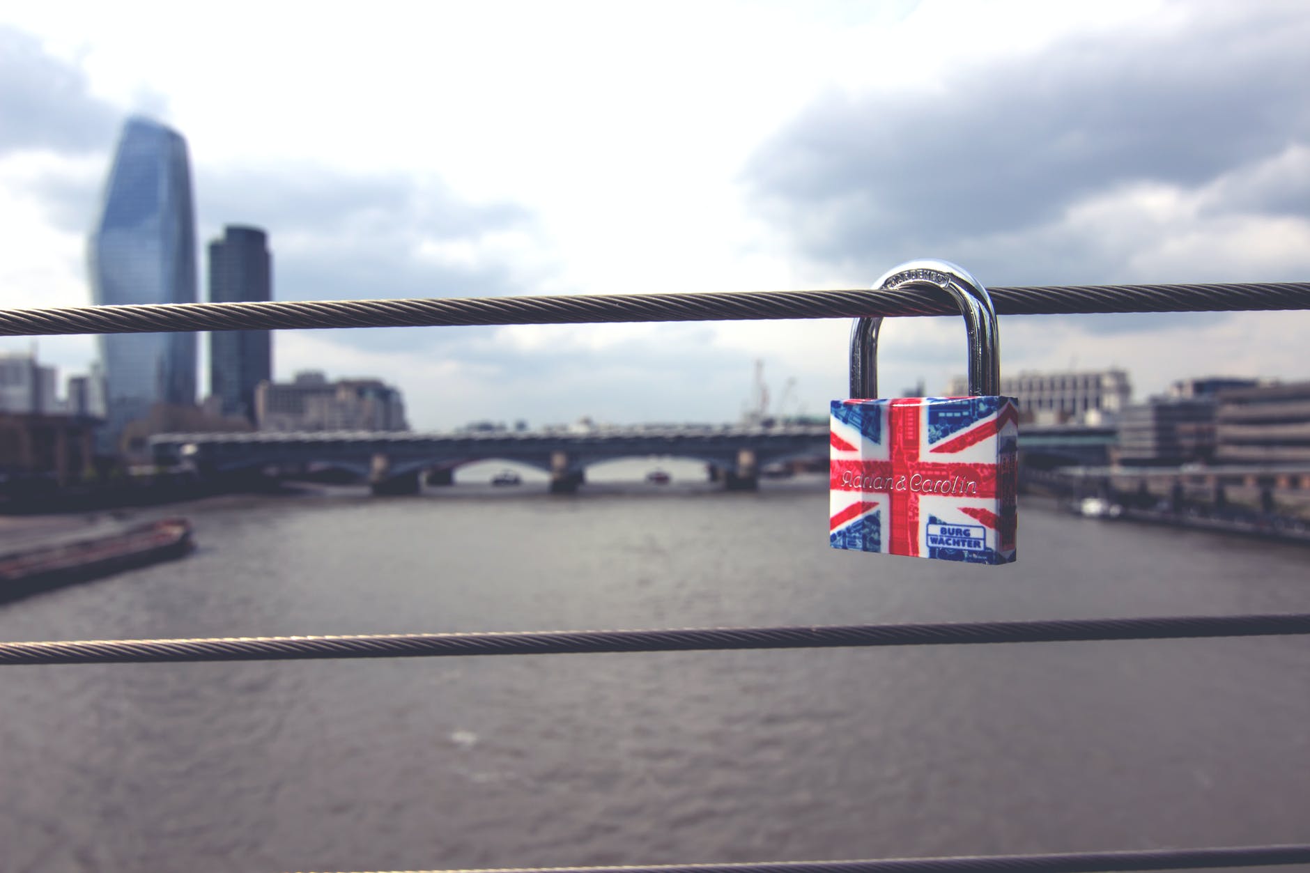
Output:
<svg viewBox="0 0 1310 873">
<path fill-rule="evenodd" d="M 955 299 L 968 330 L 968 374 L 971 396 L 1001 393 L 1001 338 L 996 307 L 986 288 L 948 261 L 908 261 L 888 270 L 874 283 L 875 291 L 896 288 L 939 290 Z M 878 397 L 878 330 L 882 316 L 857 319 L 850 332 L 850 397 Z"/>
</svg>

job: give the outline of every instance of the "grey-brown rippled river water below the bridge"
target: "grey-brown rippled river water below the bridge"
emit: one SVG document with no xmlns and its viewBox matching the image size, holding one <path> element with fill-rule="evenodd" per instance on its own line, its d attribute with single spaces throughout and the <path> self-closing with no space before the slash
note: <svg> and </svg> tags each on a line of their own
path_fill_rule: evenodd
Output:
<svg viewBox="0 0 1310 873">
<path fill-rule="evenodd" d="M 681 472 L 173 507 L 198 552 L 0 607 L 0 638 L 1310 611 L 1303 548 L 1030 505 L 1014 566 L 874 557 L 827 547 L 821 478 Z M 1310 840 L 1303 637 L 4 667 L 0 712 L 13 872 Z"/>
</svg>

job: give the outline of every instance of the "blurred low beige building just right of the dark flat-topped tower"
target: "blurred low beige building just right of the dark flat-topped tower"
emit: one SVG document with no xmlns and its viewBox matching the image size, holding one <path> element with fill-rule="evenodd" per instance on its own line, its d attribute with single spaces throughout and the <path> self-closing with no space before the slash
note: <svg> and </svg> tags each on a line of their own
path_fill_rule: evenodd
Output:
<svg viewBox="0 0 1310 873">
<path fill-rule="evenodd" d="M 409 430 L 401 392 L 377 379 L 328 381 L 317 371 L 255 391 L 259 430 Z"/>
</svg>

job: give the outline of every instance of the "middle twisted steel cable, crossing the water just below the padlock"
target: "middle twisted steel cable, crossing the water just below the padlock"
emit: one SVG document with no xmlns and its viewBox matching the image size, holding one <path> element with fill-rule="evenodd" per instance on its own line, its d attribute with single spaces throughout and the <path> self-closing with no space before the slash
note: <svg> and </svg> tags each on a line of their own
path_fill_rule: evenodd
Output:
<svg viewBox="0 0 1310 873">
<path fill-rule="evenodd" d="M 1068 621 L 971 621 L 668 630 L 542 630 L 365 636 L 0 642 L 0 665 L 309 661 L 443 655 L 828 649 L 993 642 L 1176 640 L 1310 633 L 1310 613 Z"/>
</svg>

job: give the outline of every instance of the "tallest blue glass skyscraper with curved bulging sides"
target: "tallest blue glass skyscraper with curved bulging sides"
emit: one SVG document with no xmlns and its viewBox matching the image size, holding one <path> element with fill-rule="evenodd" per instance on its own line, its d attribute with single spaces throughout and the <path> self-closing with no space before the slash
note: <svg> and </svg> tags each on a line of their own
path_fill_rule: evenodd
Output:
<svg viewBox="0 0 1310 873">
<path fill-rule="evenodd" d="M 90 240 L 97 304 L 195 303 L 195 211 L 186 140 L 130 118 L 118 140 L 100 222 Z M 195 402 L 195 334 L 100 337 L 106 436 L 155 404 Z"/>
</svg>

